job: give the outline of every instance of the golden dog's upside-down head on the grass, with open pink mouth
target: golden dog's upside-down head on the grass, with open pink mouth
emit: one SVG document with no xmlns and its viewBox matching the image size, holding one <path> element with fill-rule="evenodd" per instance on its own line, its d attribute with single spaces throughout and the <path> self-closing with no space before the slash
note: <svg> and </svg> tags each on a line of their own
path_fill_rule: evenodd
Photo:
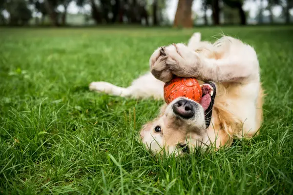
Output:
<svg viewBox="0 0 293 195">
<path fill-rule="evenodd" d="M 213 85 L 214 86 L 214 85 Z M 175 153 L 183 155 L 201 145 L 206 133 L 207 116 L 212 109 L 214 89 L 203 84 L 203 98 L 200 103 L 188 98 L 176 98 L 153 121 L 143 126 L 140 136 L 153 154 Z M 207 113 L 208 112 L 208 113 Z"/>
</svg>

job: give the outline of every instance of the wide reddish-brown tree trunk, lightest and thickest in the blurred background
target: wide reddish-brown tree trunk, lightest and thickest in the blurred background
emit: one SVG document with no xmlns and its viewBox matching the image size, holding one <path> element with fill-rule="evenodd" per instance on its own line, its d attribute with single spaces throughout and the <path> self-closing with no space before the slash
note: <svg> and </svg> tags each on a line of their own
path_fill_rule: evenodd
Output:
<svg viewBox="0 0 293 195">
<path fill-rule="evenodd" d="M 192 28 L 191 18 L 192 0 L 178 0 L 177 10 L 174 19 L 175 27 Z"/>
</svg>

